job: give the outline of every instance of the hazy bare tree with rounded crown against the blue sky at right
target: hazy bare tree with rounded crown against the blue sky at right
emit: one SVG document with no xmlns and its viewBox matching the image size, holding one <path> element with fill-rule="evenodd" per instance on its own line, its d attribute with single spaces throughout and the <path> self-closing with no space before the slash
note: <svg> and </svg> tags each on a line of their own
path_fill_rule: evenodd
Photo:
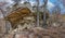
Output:
<svg viewBox="0 0 65 38">
<path fill-rule="evenodd" d="M 58 5 L 55 5 L 52 12 L 54 17 L 53 22 L 57 22 L 61 15 L 61 8 Z"/>
</svg>

